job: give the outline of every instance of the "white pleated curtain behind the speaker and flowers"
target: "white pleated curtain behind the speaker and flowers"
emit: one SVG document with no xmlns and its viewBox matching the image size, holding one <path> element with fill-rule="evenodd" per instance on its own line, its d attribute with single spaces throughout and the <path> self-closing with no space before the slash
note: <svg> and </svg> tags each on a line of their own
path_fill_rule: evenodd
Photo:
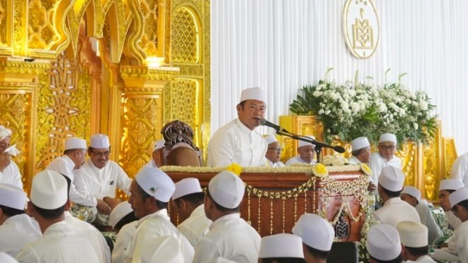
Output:
<svg viewBox="0 0 468 263">
<path fill-rule="evenodd" d="M 268 90 L 266 119 L 278 123 L 304 85 L 329 79 L 383 85 L 398 75 L 436 104 L 444 136 L 468 151 L 468 1 L 374 1 L 380 40 L 357 59 L 345 44 L 338 0 L 211 0 L 211 133 L 235 118 L 240 91 Z M 371 76 L 374 80 L 367 80 Z M 273 133 L 273 130 L 261 130 Z"/>
</svg>

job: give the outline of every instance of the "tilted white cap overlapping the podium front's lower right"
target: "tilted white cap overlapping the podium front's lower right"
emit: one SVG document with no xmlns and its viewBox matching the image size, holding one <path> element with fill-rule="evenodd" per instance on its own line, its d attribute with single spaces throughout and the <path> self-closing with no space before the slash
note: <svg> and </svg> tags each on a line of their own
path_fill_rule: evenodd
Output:
<svg viewBox="0 0 468 263">
<path fill-rule="evenodd" d="M 316 214 L 303 214 L 293 227 L 293 234 L 302 238 L 302 243 L 316 250 L 330 251 L 335 231 L 328 221 Z"/>
</svg>

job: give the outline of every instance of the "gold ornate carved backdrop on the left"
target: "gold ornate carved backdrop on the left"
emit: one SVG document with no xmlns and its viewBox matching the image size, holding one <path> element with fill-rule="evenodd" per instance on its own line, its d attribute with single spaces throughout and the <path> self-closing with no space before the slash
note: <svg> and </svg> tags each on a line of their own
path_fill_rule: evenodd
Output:
<svg viewBox="0 0 468 263">
<path fill-rule="evenodd" d="M 209 138 L 209 0 L 0 0 L 0 124 L 32 176 L 66 137 L 111 139 L 133 176 L 164 123 Z"/>
</svg>

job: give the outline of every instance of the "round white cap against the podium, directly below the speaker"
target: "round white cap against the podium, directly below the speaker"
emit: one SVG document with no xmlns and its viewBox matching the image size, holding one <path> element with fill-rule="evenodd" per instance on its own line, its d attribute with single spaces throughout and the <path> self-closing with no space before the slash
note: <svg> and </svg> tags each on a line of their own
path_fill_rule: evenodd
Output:
<svg viewBox="0 0 468 263">
<path fill-rule="evenodd" d="M 221 171 L 208 184 L 209 195 L 221 207 L 238 207 L 244 197 L 245 185 L 240 177 L 230 171 Z"/>
</svg>

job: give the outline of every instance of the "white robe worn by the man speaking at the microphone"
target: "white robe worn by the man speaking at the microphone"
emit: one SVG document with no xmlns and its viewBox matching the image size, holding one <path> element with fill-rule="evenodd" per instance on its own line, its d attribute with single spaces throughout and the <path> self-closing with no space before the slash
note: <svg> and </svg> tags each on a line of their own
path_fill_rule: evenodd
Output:
<svg viewBox="0 0 468 263">
<path fill-rule="evenodd" d="M 268 144 L 256 130 L 250 130 L 236 118 L 216 130 L 208 144 L 207 165 L 265 166 Z"/>
</svg>

